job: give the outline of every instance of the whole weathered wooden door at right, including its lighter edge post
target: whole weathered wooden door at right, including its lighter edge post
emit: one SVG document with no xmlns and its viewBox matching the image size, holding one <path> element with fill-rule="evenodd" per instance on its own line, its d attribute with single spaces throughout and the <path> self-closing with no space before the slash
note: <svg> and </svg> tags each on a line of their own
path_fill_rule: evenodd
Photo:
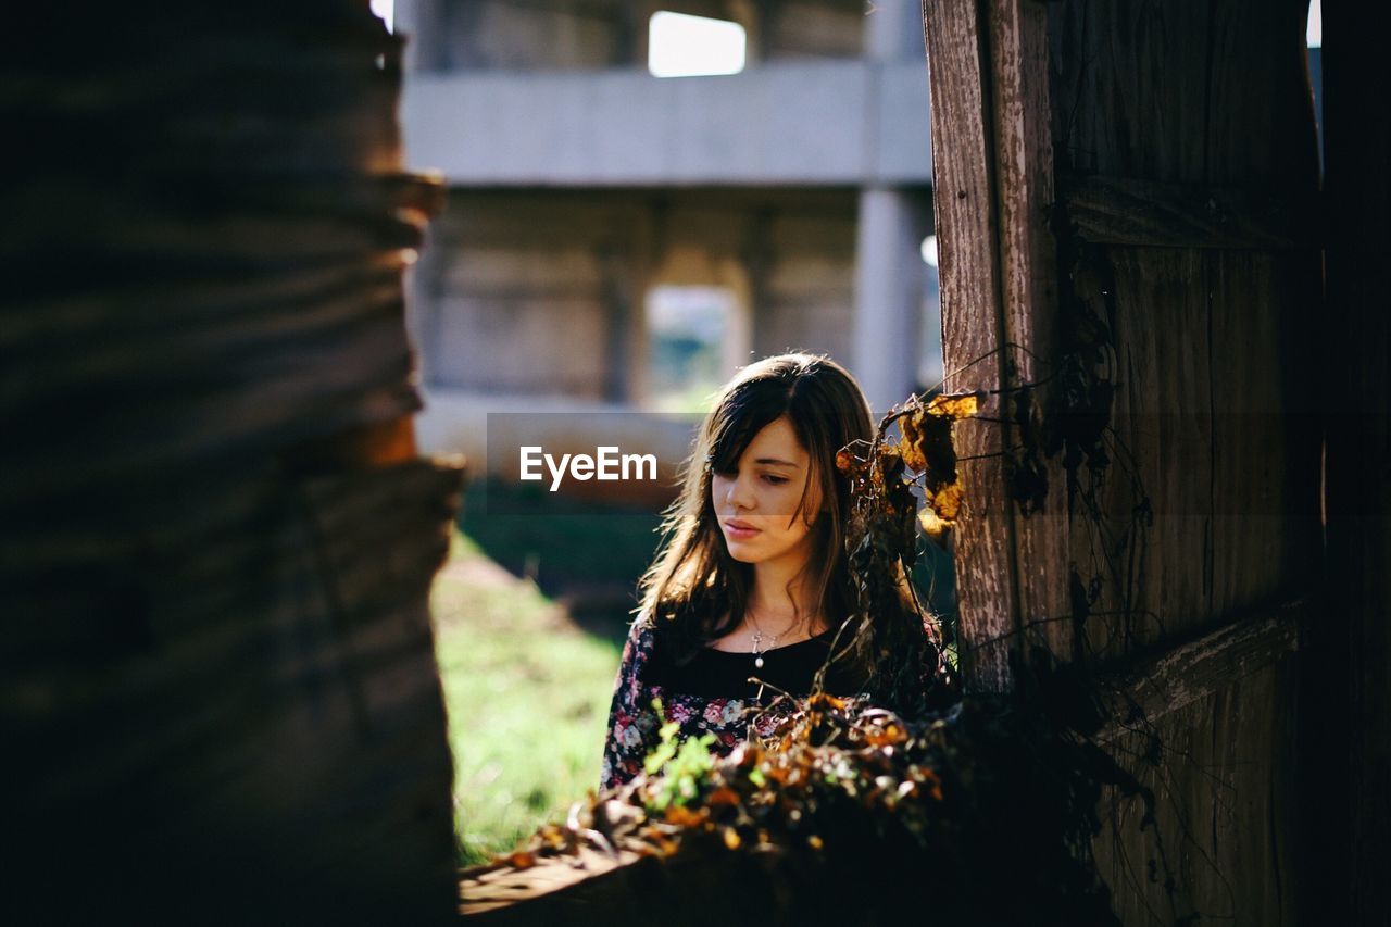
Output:
<svg viewBox="0 0 1391 927">
<path fill-rule="evenodd" d="M 996 397 L 957 426 L 965 681 L 1010 689 L 1043 643 L 1143 707 L 1156 824 L 1109 803 L 1096 842 L 1125 923 L 1291 916 L 1271 615 L 1312 599 L 1319 540 L 1305 8 L 924 3 L 947 388 Z"/>
</svg>

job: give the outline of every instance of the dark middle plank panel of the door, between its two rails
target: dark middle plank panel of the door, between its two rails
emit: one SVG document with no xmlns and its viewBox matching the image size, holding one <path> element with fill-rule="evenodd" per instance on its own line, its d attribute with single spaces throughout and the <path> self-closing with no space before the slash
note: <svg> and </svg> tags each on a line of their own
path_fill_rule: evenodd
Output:
<svg viewBox="0 0 1391 927">
<path fill-rule="evenodd" d="M 1107 658 L 1301 594 L 1317 543 L 1317 429 L 1289 367 L 1259 360 L 1298 356 L 1313 269 L 1118 246 L 1109 266 L 1117 393 L 1104 519 L 1074 529 L 1072 553 L 1084 580 L 1104 578 L 1086 633 Z"/>
</svg>

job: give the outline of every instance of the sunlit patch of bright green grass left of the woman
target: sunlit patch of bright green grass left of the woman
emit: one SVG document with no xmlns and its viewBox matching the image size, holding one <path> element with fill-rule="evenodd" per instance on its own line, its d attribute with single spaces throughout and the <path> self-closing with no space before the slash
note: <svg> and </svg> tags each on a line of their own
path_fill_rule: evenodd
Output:
<svg viewBox="0 0 1391 927">
<path fill-rule="evenodd" d="M 619 647 L 463 534 L 433 593 L 462 864 L 563 820 L 598 786 Z"/>
</svg>

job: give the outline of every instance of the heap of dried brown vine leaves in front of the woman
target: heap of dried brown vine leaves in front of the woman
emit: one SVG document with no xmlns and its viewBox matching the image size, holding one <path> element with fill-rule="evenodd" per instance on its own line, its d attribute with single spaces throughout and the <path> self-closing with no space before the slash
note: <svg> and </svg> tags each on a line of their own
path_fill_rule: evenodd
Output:
<svg viewBox="0 0 1391 927">
<path fill-rule="evenodd" d="M 682 759 L 577 803 L 563 825 L 466 873 L 465 894 L 491 869 L 583 849 L 662 860 L 778 853 L 789 860 L 779 871 L 814 894 L 741 923 L 881 924 L 928 910 L 965 923 L 1117 923 L 1085 848 L 1102 785 L 1124 774 L 1008 699 L 970 697 L 907 720 L 821 695 L 725 760 Z"/>
</svg>

